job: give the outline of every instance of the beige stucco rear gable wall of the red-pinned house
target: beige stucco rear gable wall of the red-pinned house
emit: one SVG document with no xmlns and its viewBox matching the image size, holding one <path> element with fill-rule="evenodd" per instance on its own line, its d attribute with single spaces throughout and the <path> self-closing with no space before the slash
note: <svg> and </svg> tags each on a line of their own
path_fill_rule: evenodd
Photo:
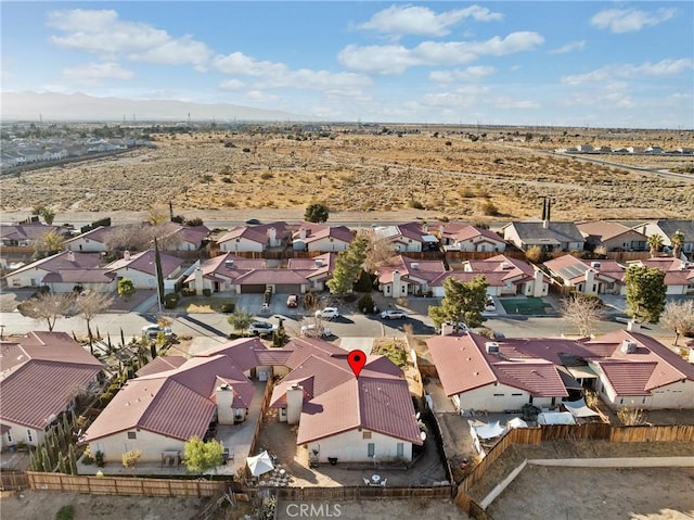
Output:
<svg viewBox="0 0 694 520">
<path fill-rule="evenodd" d="M 364 431 L 350 430 L 308 444 L 309 453 L 319 451 L 321 462 L 327 457 L 336 457 L 337 462 L 373 462 L 369 457 L 369 443 L 374 444 L 376 464 L 394 460 L 397 457 L 397 444 L 402 443 L 402 460 L 412 460 L 412 444 L 381 433 L 371 432 L 371 439 L 363 439 Z"/>
</svg>

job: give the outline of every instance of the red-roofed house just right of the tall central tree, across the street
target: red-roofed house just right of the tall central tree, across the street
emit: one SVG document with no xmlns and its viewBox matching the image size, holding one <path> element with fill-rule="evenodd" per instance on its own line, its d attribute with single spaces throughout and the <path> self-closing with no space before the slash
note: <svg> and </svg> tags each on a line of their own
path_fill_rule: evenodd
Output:
<svg viewBox="0 0 694 520">
<path fill-rule="evenodd" d="M 398 255 L 376 270 L 378 291 L 387 297 L 433 293 L 433 283 L 446 274 L 441 261 L 416 261 Z"/>
</svg>

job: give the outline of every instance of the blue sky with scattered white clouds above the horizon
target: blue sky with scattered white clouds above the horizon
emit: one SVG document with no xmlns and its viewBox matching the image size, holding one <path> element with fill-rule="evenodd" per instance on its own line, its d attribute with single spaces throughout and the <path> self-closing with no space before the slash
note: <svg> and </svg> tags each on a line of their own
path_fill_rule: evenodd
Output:
<svg viewBox="0 0 694 520">
<path fill-rule="evenodd" d="M 694 127 L 691 1 L 0 5 L 2 91 L 350 122 Z"/>
</svg>

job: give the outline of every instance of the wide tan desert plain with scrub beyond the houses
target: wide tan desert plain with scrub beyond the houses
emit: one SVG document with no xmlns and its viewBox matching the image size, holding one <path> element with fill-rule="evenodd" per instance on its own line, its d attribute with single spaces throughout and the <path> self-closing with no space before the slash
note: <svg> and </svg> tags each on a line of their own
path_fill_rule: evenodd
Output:
<svg viewBox="0 0 694 520">
<path fill-rule="evenodd" d="M 551 198 L 556 220 L 687 218 L 694 207 L 691 155 L 554 153 L 586 143 L 692 148 L 692 132 L 245 127 L 151 137 L 155 148 L 2 176 L 4 219 L 37 204 L 59 220 L 145 213 L 153 205 L 168 211 L 169 202 L 177 214 L 203 219 L 300 218 L 308 204 L 321 202 L 360 219 L 475 223 L 537 218 L 540 196 Z"/>
</svg>

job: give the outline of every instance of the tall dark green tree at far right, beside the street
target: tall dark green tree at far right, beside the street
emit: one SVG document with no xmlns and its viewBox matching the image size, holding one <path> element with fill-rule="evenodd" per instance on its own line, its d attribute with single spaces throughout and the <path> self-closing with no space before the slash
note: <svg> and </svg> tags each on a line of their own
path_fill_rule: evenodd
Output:
<svg viewBox="0 0 694 520">
<path fill-rule="evenodd" d="M 627 314 L 639 322 L 657 324 L 665 309 L 665 271 L 630 265 L 625 275 Z"/>
</svg>

